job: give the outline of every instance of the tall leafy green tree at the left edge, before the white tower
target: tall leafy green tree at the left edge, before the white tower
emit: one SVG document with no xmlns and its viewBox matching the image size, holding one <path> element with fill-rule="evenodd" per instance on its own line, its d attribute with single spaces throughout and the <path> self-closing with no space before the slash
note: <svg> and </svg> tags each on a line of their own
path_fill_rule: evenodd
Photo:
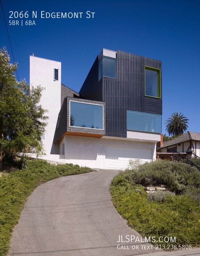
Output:
<svg viewBox="0 0 200 256">
<path fill-rule="evenodd" d="M 6 149 L 24 152 L 39 147 L 47 125 L 47 112 L 39 104 L 42 88 L 30 87 L 25 80 L 16 80 L 17 63 L 10 63 L 6 48 L 0 49 L 0 171 Z"/>
</svg>

